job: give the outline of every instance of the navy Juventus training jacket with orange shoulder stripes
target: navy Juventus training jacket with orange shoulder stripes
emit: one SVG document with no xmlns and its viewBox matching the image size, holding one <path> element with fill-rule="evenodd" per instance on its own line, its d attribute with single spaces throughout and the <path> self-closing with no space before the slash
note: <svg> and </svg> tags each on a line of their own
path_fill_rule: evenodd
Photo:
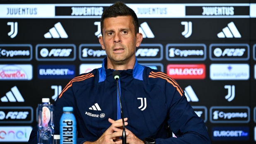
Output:
<svg viewBox="0 0 256 144">
<path fill-rule="evenodd" d="M 102 68 L 73 78 L 54 103 L 54 131 L 59 134 L 63 106 L 72 106 L 77 120 L 77 144 L 95 141 L 110 127 L 108 118 L 121 118 L 114 70 Z M 121 102 L 126 129 L 157 144 L 210 144 L 203 119 L 188 104 L 181 87 L 165 73 L 138 64 L 120 71 Z M 177 136 L 167 137 L 168 124 Z M 36 139 L 36 127 L 29 142 Z"/>
</svg>

